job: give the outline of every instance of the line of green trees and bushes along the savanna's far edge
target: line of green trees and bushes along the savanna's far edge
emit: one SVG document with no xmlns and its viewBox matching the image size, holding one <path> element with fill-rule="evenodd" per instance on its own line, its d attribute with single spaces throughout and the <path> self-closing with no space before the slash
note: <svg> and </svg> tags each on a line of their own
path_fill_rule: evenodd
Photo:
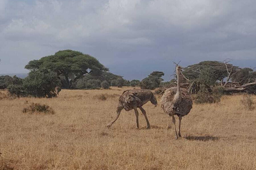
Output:
<svg viewBox="0 0 256 170">
<path fill-rule="evenodd" d="M 142 81 L 125 80 L 122 76 L 108 72 L 109 69 L 95 57 L 73 50 L 61 50 L 53 55 L 29 61 L 25 68 L 30 72 L 24 79 L 0 76 L 0 89 L 8 88 L 16 96 L 54 97 L 56 86 L 65 89 L 139 86 L 151 90 L 176 86 L 175 78 L 163 82 L 162 71 L 153 71 Z M 187 66 L 182 73 L 181 85 L 190 93 L 212 93 L 216 87 L 226 92 L 233 89 L 234 92 L 240 86 L 242 88 L 238 91 L 256 92 L 253 84 L 256 81 L 256 71 L 234 66 L 230 60 L 202 61 Z M 248 83 L 252 85 L 248 86 Z"/>
</svg>

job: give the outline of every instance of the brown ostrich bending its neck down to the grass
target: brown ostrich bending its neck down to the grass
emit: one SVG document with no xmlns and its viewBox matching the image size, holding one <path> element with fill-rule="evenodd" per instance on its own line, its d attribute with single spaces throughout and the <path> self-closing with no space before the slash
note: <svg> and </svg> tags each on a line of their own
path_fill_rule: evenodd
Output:
<svg viewBox="0 0 256 170">
<path fill-rule="evenodd" d="M 147 122 L 147 128 L 150 128 L 150 124 L 146 115 L 146 111 L 142 108 L 144 104 L 146 104 L 148 101 L 150 101 L 153 105 L 157 106 L 157 100 L 156 97 L 153 95 L 153 93 L 150 90 L 144 90 L 144 89 L 132 89 L 132 90 L 126 90 L 123 92 L 123 94 L 119 98 L 119 103 L 116 108 L 117 116 L 116 118 L 110 122 L 107 127 L 111 127 L 111 125 L 118 119 L 121 111 L 125 109 L 126 111 L 130 111 L 134 109 L 135 116 L 136 116 L 136 123 L 137 128 L 139 128 L 139 112 L 137 108 L 139 108 L 142 112 L 142 114 L 145 116 L 146 122 Z"/>
</svg>

